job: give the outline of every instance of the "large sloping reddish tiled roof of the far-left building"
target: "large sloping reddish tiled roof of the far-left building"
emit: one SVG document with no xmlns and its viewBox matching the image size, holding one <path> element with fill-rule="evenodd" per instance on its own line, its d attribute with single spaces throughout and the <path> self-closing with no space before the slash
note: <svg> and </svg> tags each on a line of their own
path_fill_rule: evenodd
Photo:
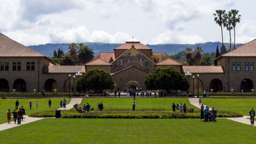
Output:
<svg viewBox="0 0 256 144">
<path fill-rule="evenodd" d="M 0 57 L 45 57 L 0 33 Z"/>
</svg>

